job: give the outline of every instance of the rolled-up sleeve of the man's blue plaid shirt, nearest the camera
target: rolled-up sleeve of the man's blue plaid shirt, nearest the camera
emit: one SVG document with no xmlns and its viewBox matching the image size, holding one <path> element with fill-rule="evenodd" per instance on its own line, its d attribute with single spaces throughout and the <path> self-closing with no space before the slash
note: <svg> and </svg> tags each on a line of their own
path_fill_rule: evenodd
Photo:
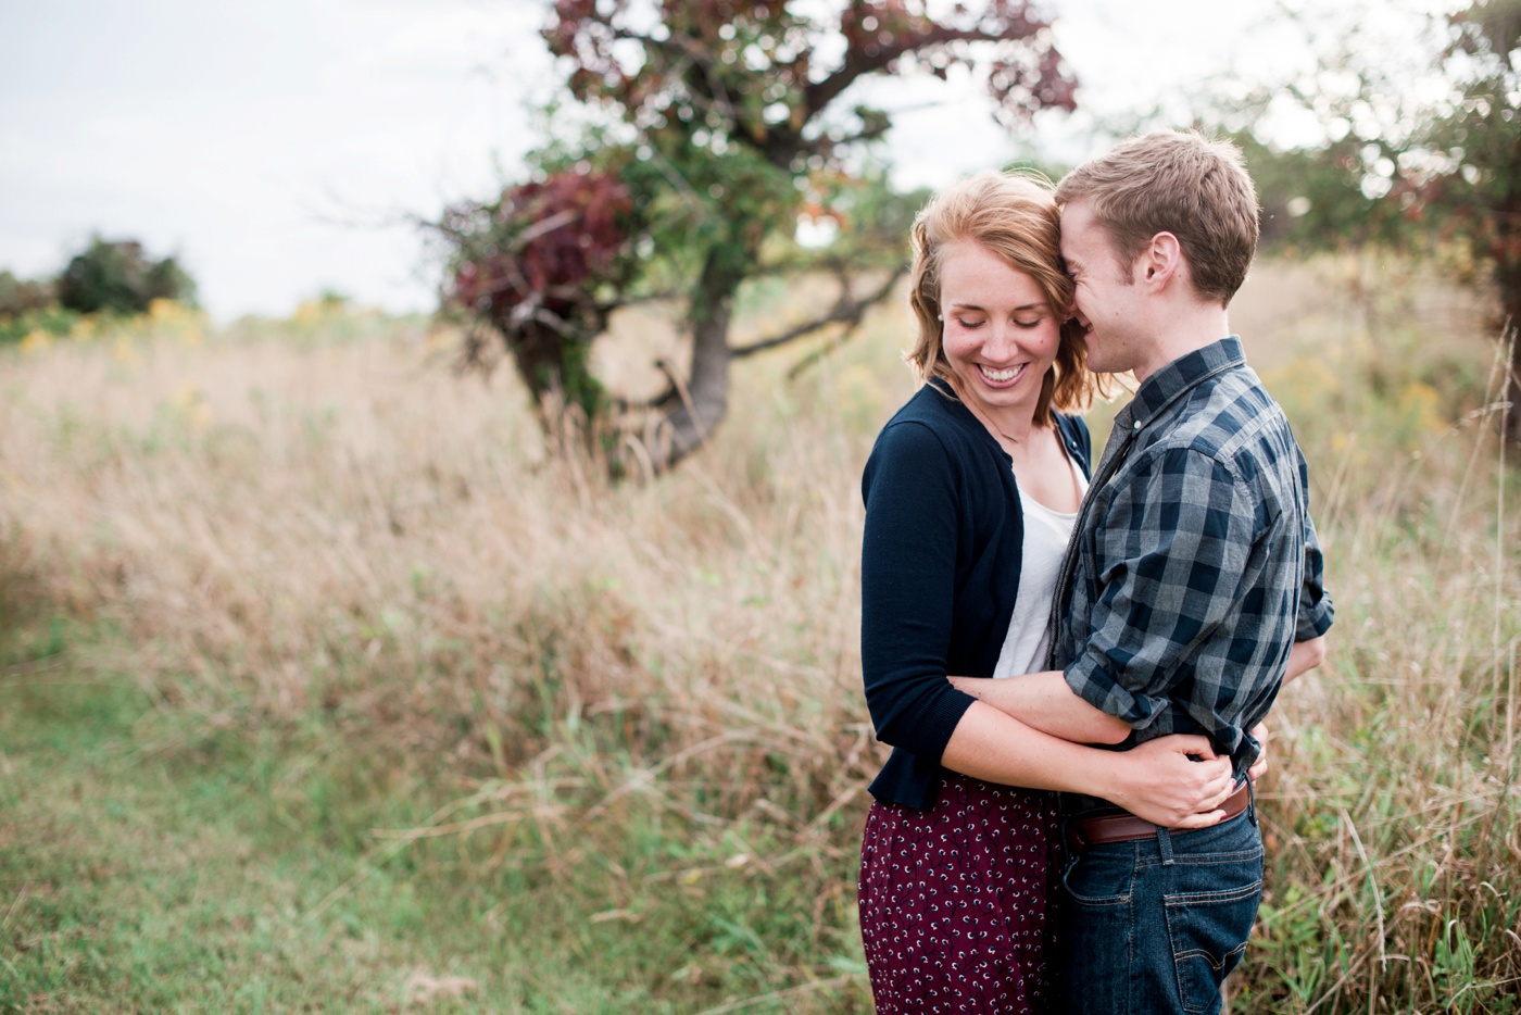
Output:
<svg viewBox="0 0 1521 1015">
<path fill-rule="evenodd" d="M 1180 680 L 1224 686 L 1229 659 L 1194 648 L 1232 622 L 1258 520 L 1250 490 L 1209 455 L 1174 447 L 1138 466 L 1098 519 L 1088 639 L 1065 674 L 1145 729 Z"/>
</svg>

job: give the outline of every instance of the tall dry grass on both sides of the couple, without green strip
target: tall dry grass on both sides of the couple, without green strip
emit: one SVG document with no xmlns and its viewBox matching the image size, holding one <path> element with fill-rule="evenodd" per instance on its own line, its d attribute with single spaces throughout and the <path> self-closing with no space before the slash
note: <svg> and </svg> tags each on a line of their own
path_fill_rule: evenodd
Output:
<svg viewBox="0 0 1521 1015">
<path fill-rule="evenodd" d="M 1234 309 L 1311 461 L 1337 601 L 1328 665 L 1276 711 L 1237 1010 L 1516 1009 L 1521 488 L 1483 307 L 1364 257 L 1262 265 Z M 91 663 L 166 712 L 452 758 L 476 791 L 383 849 L 523 820 L 586 845 L 637 807 L 841 863 L 882 756 L 858 478 L 911 390 L 907 327 L 884 310 L 794 382 L 744 364 L 712 446 L 622 485 L 421 324 L 9 353 L 0 574 L 116 632 Z"/>
</svg>

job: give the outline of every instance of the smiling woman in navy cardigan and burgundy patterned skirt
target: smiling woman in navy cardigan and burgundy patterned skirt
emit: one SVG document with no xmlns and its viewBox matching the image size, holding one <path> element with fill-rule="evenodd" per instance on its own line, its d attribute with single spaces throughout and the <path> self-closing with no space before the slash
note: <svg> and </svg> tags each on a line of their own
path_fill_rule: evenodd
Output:
<svg viewBox="0 0 1521 1015">
<path fill-rule="evenodd" d="M 861 933 L 878 1012 L 1043 1010 L 1048 790 L 1209 823 L 1229 762 L 1200 737 L 1113 753 L 1122 723 L 1068 692 L 1021 718 L 973 697 L 1039 680 L 1063 549 L 1088 485 L 1095 377 L 1066 323 L 1057 208 L 1030 178 L 954 184 L 914 222 L 908 355 L 923 382 L 862 478 L 861 663 L 878 738 Z M 969 677 L 966 683 L 952 683 Z M 1013 685 L 1002 685 L 1013 686 Z M 1045 685 L 1042 685 L 1045 686 Z"/>
</svg>

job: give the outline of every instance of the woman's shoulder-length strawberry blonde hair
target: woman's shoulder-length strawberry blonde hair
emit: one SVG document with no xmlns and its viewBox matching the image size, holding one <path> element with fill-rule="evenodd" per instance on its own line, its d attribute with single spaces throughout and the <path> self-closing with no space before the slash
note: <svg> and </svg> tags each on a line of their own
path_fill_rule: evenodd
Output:
<svg viewBox="0 0 1521 1015">
<path fill-rule="evenodd" d="M 940 268 L 946 248 L 969 239 L 1034 278 L 1051 313 L 1063 318 L 1056 365 L 1040 383 L 1036 426 L 1051 426 L 1051 408 L 1078 412 L 1092 403 L 1095 391 L 1103 393 L 1100 379 L 1088 368 L 1083 330 L 1066 320 L 1072 309 L 1072 280 L 1062 263 L 1060 224 L 1051 184 L 1043 177 L 983 172 L 929 199 L 914 218 L 913 230 L 908 303 L 919 318 L 919 339 L 903 356 L 920 383 L 940 377 L 964 400 L 941 345 Z"/>
</svg>

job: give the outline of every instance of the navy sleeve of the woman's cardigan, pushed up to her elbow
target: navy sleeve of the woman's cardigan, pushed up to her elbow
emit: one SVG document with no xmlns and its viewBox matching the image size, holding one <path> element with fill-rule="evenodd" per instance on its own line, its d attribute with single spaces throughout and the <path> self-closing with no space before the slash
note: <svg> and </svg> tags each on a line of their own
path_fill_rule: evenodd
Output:
<svg viewBox="0 0 1521 1015">
<path fill-rule="evenodd" d="M 878 438 L 861 481 L 861 668 L 884 743 L 938 762 L 973 698 L 946 680 L 958 495 L 949 457 L 917 423 Z"/>
</svg>

